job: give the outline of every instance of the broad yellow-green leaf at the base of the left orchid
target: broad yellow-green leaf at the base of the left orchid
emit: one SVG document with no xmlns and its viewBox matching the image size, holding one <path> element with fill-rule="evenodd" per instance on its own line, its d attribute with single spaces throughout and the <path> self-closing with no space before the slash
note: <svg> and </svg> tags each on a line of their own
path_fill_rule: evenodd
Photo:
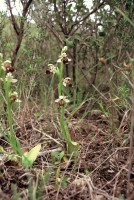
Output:
<svg viewBox="0 0 134 200">
<path fill-rule="evenodd" d="M 34 161 L 36 160 L 39 151 L 41 149 L 41 144 L 36 145 L 29 152 L 25 152 L 22 156 L 22 165 L 24 167 L 31 167 Z"/>
</svg>

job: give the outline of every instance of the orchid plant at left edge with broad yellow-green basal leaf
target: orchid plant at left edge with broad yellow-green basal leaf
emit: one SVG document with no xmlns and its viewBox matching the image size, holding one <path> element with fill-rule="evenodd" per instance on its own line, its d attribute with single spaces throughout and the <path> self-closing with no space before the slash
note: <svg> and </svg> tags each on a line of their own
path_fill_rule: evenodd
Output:
<svg viewBox="0 0 134 200">
<path fill-rule="evenodd" d="M 29 152 L 23 153 L 21 144 L 16 137 L 15 131 L 13 129 L 12 105 L 14 103 L 20 103 L 21 100 L 18 98 L 18 93 L 12 90 L 12 84 L 17 82 L 17 79 L 15 79 L 12 74 L 13 72 L 14 68 L 12 67 L 10 60 L 6 60 L 2 64 L 0 63 L 0 82 L 2 88 L 0 90 L 0 95 L 2 95 L 4 100 L 3 105 L 6 115 L 5 124 L 7 128 L 2 131 L 2 135 L 11 145 L 15 154 L 6 152 L 2 146 L 0 146 L 0 152 L 6 155 L 8 159 L 21 163 L 21 165 L 24 167 L 31 167 L 39 154 L 41 144 L 37 144 Z"/>
</svg>

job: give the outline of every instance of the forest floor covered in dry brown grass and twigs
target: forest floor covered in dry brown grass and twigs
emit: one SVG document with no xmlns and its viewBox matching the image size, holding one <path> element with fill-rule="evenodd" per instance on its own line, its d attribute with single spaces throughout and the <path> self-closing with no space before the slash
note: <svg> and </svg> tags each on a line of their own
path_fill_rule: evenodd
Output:
<svg viewBox="0 0 134 200">
<path fill-rule="evenodd" d="M 119 129 L 110 128 L 102 113 L 89 113 L 84 119 L 79 115 L 72 117 L 70 134 L 80 144 L 74 161 L 66 155 L 58 119 L 58 114 L 37 116 L 34 110 L 17 116 L 15 130 L 23 151 L 38 143 L 42 149 L 33 167 L 27 169 L 1 153 L 0 199 L 133 200 L 134 163 L 130 166 L 127 122 L 122 123 L 125 125 L 119 133 Z M 0 145 L 11 151 L 2 136 Z M 66 159 L 54 159 L 55 149 L 64 151 Z"/>
</svg>

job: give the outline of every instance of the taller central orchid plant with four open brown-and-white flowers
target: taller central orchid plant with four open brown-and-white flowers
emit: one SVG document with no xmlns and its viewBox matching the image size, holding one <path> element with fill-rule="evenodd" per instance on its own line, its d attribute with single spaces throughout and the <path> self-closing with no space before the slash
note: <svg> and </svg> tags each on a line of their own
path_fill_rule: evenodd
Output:
<svg viewBox="0 0 134 200">
<path fill-rule="evenodd" d="M 71 139 L 67 121 L 65 118 L 65 107 L 70 102 L 67 96 L 64 95 L 64 87 L 73 87 L 73 83 L 70 77 L 63 78 L 63 70 L 66 64 L 68 64 L 71 59 L 67 56 L 67 46 L 65 46 L 61 55 L 59 56 L 56 65 L 49 64 L 46 74 L 56 74 L 58 77 L 58 96 L 59 98 L 55 102 L 59 106 L 60 112 L 60 129 L 61 136 L 66 140 L 67 152 L 73 154 L 75 157 L 78 155 L 79 144 Z"/>
</svg>

